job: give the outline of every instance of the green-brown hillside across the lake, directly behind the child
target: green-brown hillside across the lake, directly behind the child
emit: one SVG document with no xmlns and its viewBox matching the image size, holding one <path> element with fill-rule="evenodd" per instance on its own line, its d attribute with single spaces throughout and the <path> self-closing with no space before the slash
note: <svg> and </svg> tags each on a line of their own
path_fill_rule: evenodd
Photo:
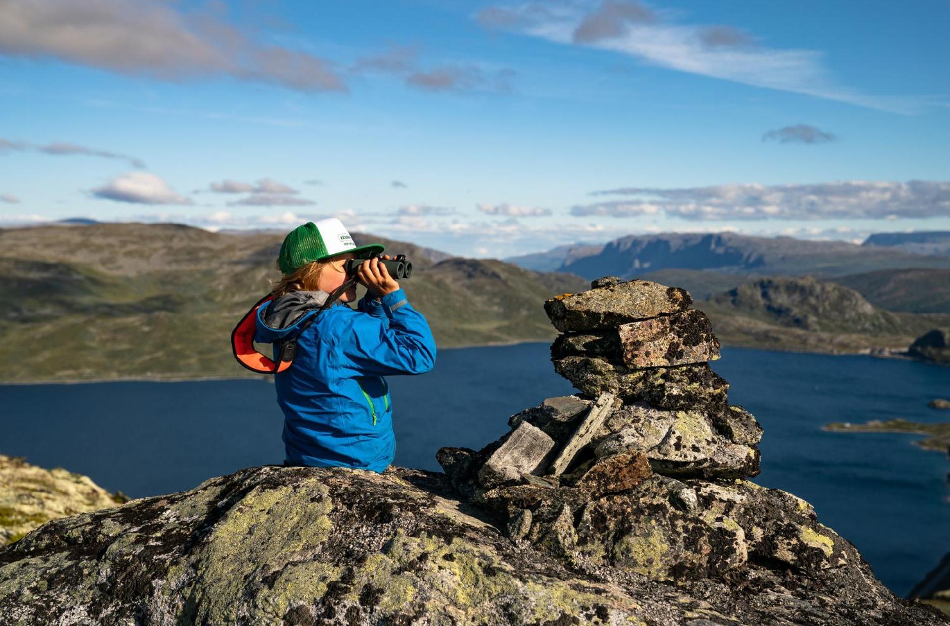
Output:
<svg viewBox="0 0 950 626">
<path fill-rule="evenodd" d="M 434 262 L 409 243 L 353 239 L 409 256 L 413 274 L 400 286 L 442 348 L 551 340 L 543 301 L 589 287 L 575 275 Z M 231 356 L 230 332 L 278 277 L 281 240 L 180 224 L 0 230 L 0 381 L 255 375 Z"/>
</svg>

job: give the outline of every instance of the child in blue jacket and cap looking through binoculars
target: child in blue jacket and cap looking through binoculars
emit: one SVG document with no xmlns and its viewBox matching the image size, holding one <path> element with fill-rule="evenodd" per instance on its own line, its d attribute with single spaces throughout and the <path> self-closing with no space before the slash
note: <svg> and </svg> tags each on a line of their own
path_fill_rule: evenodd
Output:
<svg viewBox="0 0 950 626">
<path fill-rule="evenodd" d="M 382 252 L 382 244 L 357 247 L 337 218 L 295 228 L 280 247 L 283 277 L 274 299 L 257 310 L 254 340 L 281 341 L 300 332 L 293 365 L 274 376 L 284 413 L 284 465 L 343 465 L 384 471 L 395 456 L 389 374 L 421 374 L 435 366 L 435 339 L 426 318 L 412 308 L 377 258 L 355 276 L 350 258 Z M 390 258 L 384 255 L 383 258 Z M 353 310 L 356 281 L 367 288 Z M 317 311 L 344 286 L 332 304 Z M 275 355 L 276 355 L 275 347 Z"/>
</svg>

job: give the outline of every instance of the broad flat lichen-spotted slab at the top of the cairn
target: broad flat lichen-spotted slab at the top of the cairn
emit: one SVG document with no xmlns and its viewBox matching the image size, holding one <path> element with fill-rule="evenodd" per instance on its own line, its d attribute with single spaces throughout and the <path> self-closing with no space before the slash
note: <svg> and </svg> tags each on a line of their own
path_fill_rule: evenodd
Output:
<svg viewBox="0 0 950 626">
<path fill-rule="evenodd" d="M 595 284 L 601 284 L 595 281 Z M 682 311 L 693 298 L 684 289 L 649 280 L 607 282 L 578 294 L 544 301 L 544 311 L 561 332 L 609 330 L 638 319 Z"/>
</svg>

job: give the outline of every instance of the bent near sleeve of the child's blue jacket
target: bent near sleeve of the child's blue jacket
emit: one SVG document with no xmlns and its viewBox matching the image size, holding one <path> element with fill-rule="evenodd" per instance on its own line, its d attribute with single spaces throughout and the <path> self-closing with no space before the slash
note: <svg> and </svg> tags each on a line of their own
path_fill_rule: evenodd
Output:
<svg viewBox="0 0 950 626">
<path fill-rule="evenodd" d="M 380 308 L 387 325 L 371 314 L 352 315 L 352 334 L 336 338 L 344 375 L 422 374 L 435 367 L 435 338 L 402 289 L 386 294 Z"/>
</svg>

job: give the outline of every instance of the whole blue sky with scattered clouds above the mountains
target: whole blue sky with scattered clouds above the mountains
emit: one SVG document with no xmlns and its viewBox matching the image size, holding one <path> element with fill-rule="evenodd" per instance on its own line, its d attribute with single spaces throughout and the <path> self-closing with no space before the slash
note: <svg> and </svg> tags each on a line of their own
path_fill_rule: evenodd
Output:
<svg viewBox="0 0 950 626">
<path fill-rule="evenodd" d="M 0 0 L 0 223 L 950 230 L 950 5 Z M 230 193 L 225 193 L 230 192 Z"/>
</svg>

